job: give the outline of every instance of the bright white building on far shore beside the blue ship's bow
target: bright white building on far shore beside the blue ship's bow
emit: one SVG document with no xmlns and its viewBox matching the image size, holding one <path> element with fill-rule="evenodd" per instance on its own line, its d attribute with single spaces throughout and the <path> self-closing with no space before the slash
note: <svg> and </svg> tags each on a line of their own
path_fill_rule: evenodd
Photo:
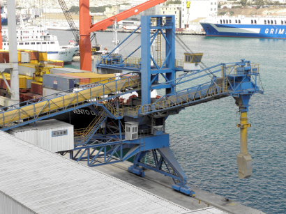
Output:
<svg viewBox="0 0 286 214">
<path fill-rule="evenodd" d="M 186 8 L 187 1 L 190 1 L 189 10 Z M 199 17 L 216 16 L 217 13 L 218 0 L 182 0 L 181 27 L 186 28 Z"/>
</svg>

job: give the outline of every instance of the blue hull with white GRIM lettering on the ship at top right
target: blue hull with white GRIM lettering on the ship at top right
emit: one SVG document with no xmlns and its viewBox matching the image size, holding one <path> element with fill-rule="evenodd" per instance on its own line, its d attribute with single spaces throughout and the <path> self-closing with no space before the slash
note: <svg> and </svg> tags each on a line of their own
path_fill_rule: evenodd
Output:
<svg viewBox="0 0 286 214">
<path fill-rule="evenodd" d="M 206 36 L 286 39 L 286 25 L 200 23 Z"/>
</svg>

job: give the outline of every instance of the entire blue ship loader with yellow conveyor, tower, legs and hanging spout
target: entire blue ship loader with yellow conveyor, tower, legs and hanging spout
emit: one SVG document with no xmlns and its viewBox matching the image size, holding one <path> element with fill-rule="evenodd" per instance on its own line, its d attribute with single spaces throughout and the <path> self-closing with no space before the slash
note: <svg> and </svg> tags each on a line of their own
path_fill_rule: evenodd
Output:
<svg viewBox="0 0 286 214">
<path fill-rule="evenodd" d="M 174 16 L 142 16 L 141 23 L 142 45 L 137 48 L 141 48 L 141 59 L 132 60 L 136 49 L 126 57 L 107 54 L 97 63 L 98 69 L 128 70 L 130 73 L 68 95 L 27 103 L 24 107 L 10 107 L 9 111 L 0 112 L 1 130 L 89 106 L 98 117 L 88 128 L 75 130 L 75 148 L 70 151 L 70 158 L 86 160 L 91 167 L 134 158 L 128 171 L 139 176 L 144 176 L 144 169 L 160 172 L 173 178 L 174 190 L 195 196 L 170 149 L 165 121 L 186 107 L 232 96 L 241 112 L 241 123 L 238 124 L 241 128 L 241 153 L 237 157 L 239 177 L 251 176 L 251 158 L 247 153 L 247 128 L 250 127 L 247 112 L 251 95 L 263 93 L 259 66 L 242 59 L 210 68 L 197 69 L 195 66 L 196 69 L 184 70 L 183 64 L 175 60 Z M 165 40 L 164 59 L 156 59 L 150 51 L 157 37 Z M 194 54 L 188 56 L 195 57 Z M 186 59 L 184 63 L 187 63 Z M 186 72 L 176 77 L 178 71 Z M 210 74 L 209 81 L 190 86 L 190 83 L 206 79 Z M 176 91 L 176 86 L 184 83 L 188 86 Z M 151 91 L 155 89 L 163 89 L 164 95 L 151 98 Z M 129 105 L 120 105 L 119 97 L 132 91 L 138 92 L 138 98 L 132 99 Z M 146 155 L 151 155 L 151 160 L 146 162 Z"/>
</svg>

